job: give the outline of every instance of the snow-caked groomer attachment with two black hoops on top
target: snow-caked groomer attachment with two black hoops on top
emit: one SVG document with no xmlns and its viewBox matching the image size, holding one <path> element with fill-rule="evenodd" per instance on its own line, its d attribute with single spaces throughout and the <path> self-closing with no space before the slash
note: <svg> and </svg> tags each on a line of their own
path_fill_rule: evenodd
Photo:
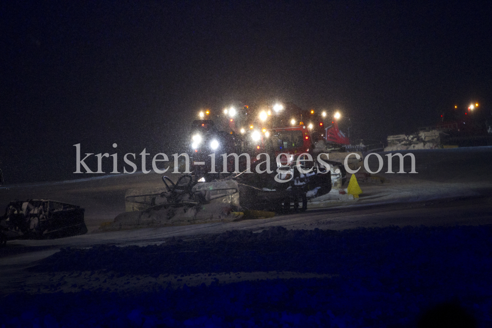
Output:
<svg viewBox="0 0 492 328">
<path fill-rule="evenodd" d="M 235 180 L 196 182 L 189 174 L 176 183 L 164 176 L 164 187 L 154 192 L 130 189 L 126 212 L 104 230 L 232 221 L 239 212 L 239 186 Z M 141 192 L 141 194 L 139 194 Z"/>
</svg>

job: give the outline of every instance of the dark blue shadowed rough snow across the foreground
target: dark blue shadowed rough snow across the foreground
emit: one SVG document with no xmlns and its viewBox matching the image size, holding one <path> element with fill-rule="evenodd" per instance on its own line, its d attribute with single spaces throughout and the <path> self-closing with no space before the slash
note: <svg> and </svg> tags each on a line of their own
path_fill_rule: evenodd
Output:
<svg viewBox="0 0 492 328">
<path fill-rule="evenodd" d="M 491 226 L 273 227 L 145 247 L 64 248 L 10 279 L 0 321 L 6 327 L 415 327 L 428 309 L 450 302 L 441 320 L 474 327 L 472 317 L 490 327 L 491 235 Z"/>
</svg>

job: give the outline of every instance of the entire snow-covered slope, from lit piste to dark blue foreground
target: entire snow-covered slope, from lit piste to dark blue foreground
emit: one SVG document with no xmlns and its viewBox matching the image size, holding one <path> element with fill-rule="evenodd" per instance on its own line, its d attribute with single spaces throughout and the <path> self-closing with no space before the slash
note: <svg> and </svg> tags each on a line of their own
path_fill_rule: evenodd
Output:
<svg viewBox="0 0 492 328">
<path fill-rule="evenodd" d="M 415 156 L 418 175 L 379 174 L 385 182 L 361 182 L 348 205 L 313 199 L 270 219 L 9 241 L 0 327 L 414 327 L 442 302 L 455 304 L 448 319 L 461 307 L 491 327 L 492 149 Z M 81 205 L 94 231 L 124 210 L 126 188 L 156 177 L 0 196 Z"/>
</svg>

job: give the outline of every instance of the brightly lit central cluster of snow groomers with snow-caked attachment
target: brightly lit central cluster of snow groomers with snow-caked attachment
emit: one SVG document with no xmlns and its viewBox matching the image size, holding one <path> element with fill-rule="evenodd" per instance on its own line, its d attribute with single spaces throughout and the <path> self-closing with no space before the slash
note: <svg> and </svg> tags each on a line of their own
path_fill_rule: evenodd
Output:
<svg viewBox="0 0 492 328">
<path fill-rule="evenodd" d="M 292 103 L 200 112 L 189 135 L 191 173 L 176 183 L 163 177 L 160 188 L 128 190 L 127 212 L 113 227 L 228 220 L 251 210 L 305 210 L 308 194 L 329 193 L 346 179 L 343 161 L 323 154 L 328 130 L 321 115 Z"/>
</svg>

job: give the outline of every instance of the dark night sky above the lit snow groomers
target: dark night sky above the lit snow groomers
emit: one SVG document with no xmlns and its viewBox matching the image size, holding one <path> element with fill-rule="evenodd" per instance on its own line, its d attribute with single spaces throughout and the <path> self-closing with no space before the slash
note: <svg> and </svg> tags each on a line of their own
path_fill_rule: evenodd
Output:
<svg viewBox="0 0 492 328">
<path fill-rule="evenodd" d="M 485 1 L 39 2 L 0 4 L 7 182 L 87 178 L 76 143 L 169 153 L 233 100 L 339 109 L 376 140 L 492 103 Z"/>
</svg>

